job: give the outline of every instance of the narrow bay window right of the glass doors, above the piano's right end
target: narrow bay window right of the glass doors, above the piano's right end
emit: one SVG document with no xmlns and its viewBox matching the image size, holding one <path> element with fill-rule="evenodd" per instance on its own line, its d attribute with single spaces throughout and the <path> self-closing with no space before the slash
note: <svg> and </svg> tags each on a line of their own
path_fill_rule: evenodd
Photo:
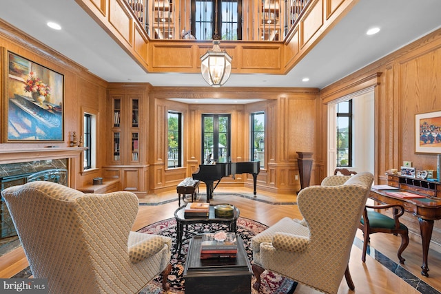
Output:
<svg viewBox="0 0 441 294">
<path fill-rule="evenodd" d="M 251 114 L 251 154 L 253 160 L 260 160 L 265 167 L 265 112 Z"/>
</svg>

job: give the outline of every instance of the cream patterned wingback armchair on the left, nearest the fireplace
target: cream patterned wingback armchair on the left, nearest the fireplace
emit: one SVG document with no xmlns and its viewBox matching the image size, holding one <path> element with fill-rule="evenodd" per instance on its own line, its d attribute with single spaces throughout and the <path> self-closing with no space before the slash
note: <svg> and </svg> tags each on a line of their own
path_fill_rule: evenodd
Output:
<svg viewBox="0 0 441 294">
<path fill-rule="evenodd" d="M 134 193 L 85 194 L 54 182 L 1 191 L 34 277 L 50 293 L 139 293 L 167 276 L 172 240 L 130 231 L 139 209 Z"/>
</svg>

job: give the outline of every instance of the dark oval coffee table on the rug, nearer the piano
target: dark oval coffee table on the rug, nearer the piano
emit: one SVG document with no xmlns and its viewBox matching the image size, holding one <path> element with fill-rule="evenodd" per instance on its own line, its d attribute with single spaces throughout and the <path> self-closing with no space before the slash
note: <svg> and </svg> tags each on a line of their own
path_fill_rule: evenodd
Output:
<svg viewBox="0 0 441 294">
<path fill-rule="evenodd" d="M 227 224 L 228 231 L 236 232 L 236 221 L 239 218 L 240 211 L 234 207 L 234 216 L 232 218 L 216 218 L 214 214 L 214 207 L 218 204 L 209 205 L 209 215 L 203 218 L 185 218 L 185 205 L 179 207 L 174 211 L 174 218 L 176 220 L 176 252 L 181 254 L 182 238 L 184 234 L 184 225 L 187 224 Z"/>
</svg>

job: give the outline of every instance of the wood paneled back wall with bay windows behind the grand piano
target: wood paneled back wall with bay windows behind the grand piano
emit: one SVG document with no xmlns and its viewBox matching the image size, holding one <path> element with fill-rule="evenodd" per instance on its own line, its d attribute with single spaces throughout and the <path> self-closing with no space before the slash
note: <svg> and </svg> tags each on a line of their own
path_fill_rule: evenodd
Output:
<svg viewBox="0 0 441 294">
<path fill-rule="evenodd" d="M 189 99 L 225 97 L 231 99 L 263 98 L 264 101 L 250 104 L 204 105 L 178 103 L 167 98 Z M 322 107 L 317 89 L 263 88 L 259 92 L 250 88 L 222 87 L 216 90 L 207 87 L 154 87 L 150 93 L 150 116 L 154 117 L 151 132 L 154 132 L 150 150 L 154 173 L 151 189 L 171 189 L 186 176 L 191 176 L 201 164 L 201 116 L 202 114 L 230 114 L 232 123 L 232 158 L 249 158 L 250 114 L 265 111 L 265 169 L 258 176 L 258 189 L 295 192 L 300 189 L 297 151 L 321 153 L 317 134 L 317 113 Z M 154 109 L 154 111 L 152 110 Z M 184 162 L 183 169 L 167 169 L 165 155 L 167 146 L 166 114 L 169 110 L 183 113 L 184 118 Z M 296 115 L 292 115 L 296 114 Z M 320 158 L 320 157 L 319 157 Z M 311 184 L 320 183 L 323 162 L 315 162 Z M 224 178 L 220 185 L 252 185 L 249 175 Z"/>
</svg>

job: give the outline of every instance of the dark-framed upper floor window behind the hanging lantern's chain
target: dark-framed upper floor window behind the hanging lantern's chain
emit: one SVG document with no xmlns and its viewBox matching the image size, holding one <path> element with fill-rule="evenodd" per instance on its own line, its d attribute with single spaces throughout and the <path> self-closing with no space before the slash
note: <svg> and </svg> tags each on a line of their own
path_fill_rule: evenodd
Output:
<svg viewBox="0 0 441 294">
<path fill-rule="evenodd" d="M 241 19 L 241 0 L 192 0 L 192 34 L 198 40 L 216 39 L 216 21 L 221 40 L 241 40 Z"/>
</svg>

